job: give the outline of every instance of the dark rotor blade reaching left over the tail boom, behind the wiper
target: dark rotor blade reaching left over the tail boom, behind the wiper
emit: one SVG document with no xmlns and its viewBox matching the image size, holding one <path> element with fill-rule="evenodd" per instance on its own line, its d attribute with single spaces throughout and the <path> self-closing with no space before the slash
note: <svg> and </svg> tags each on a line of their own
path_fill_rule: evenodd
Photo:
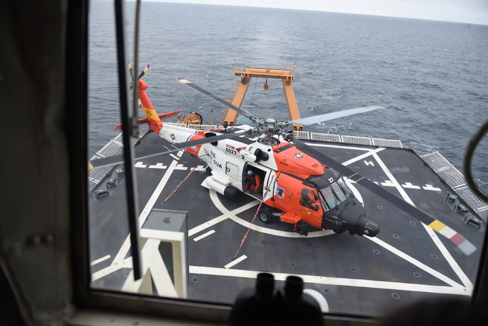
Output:
<svg viewBox="0 0 488 326">
<path fill-rule="evenodd" d="M 223 135 L 218 135 L 218 136 L 210 136 L 210 137 L 198 139 L 195 141 L 189 141 L 189 142 L 184 142 L 184 143 L 171 143 L 171 144 L 167 144 L 167 145 L 162 145 L 161 147 L 158 147 L 158 148 L 149 147 L 149 148 L 145 148 L 141 151 L 136 151 L 135 152 L 136 157 L 134 158 L 134 160 L 147 159 L 147 158 L 153 157 L 153 156 L 177 152 L 179 150 L 182 150 L 182 149 L 185 149 L 188 147 L 203 145 L 206 143 L 218 142 L 218 141 L 222 141 L 224 139 L 228 139 L 228 138 L 232 138 L 232 137 L 239 137 L 239 136 L 244 136 L 244 135 L 250 135 L 250 134 L 252 134 L 251 130 L 247 130 L 244 132 L 234 132 L 234 133 L 229 132 L 228 134 L 223 134 Z M 100 159 L 91 160 L 88 162 L 88 168 L 89 169 L 101 168 L 101 167 L 105 167 L 105 166 L 120 164 L 123 162 L 124 162 L 123 161 L 123 155 L 118 154 L 118 155 L 113 155 L 113 156 L 103 157 Z"/>
</svg>

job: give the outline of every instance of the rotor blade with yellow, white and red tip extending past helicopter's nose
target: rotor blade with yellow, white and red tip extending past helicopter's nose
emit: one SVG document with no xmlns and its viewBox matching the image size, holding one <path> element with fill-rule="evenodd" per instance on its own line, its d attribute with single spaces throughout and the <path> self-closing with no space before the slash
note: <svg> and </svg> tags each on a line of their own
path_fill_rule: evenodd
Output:
<svg viewBox="0 0 488 326">
<path fill-rule="evenodd" d="M 416 218 L 420 222 L 427 224 L 431 227 L 434 231 L 440 233 L 447 239 L 449 239 L 454 245 L 456 245 L 464 254 L 467 256 L 473 253 L 476 250 L 476 247 L 471 244 L 466 238 L 462 235 L 451 229 L 446 224 L 440 222 L 437 219 L 434 219 L 424 211 L 418 209 L 412 204 L 407 203 L 402 198 L 396 196 L 395 194 L 391 193 L 390 191 L 386 190 L 386 188 L 370 181 L 369 179 L 363 177 L 361 174 L 351 170 L 347 166 L 329 158 L 325 154 L 319 152 L 312 146 L 294 138 L 293 143 L 295 146 L 303 151 L 304 153 L 315 157 L 320 163 L 329 166 L 342 174 L 344 177 L 361 184 L 363 187 L 368 189 L 369 191 L 373 192 L 374 194 L 380 196 L 381 198 L 385 199 L 389 203 L 395 205 L 397 208 L 403 210 L 405 213 L 409 214 L 410 216 Z"/>
</svg>

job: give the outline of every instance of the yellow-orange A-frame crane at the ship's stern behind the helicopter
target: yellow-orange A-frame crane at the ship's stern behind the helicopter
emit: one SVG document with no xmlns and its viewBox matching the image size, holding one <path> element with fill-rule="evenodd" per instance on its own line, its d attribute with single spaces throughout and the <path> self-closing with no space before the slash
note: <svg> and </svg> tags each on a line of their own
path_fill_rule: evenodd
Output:
<svg viewBox="0 0 488 326">
<path fill-rule="evenodd" d="M 290 115 L 290 121 L 300 119 L 300 112 L 298 111 L 297 100 L 295 98 L 295 93 L 293 92 L 292 85 L 292 81 L 293 79 L 295 79 L 295 66 L 270 64 L 265 65 L 261 63 L 244 62 L 234 62 L 234 66 L 234 74 L 235 76 L 241 77 L 241 81 L 238 81 L 239 88 L 237 89 L 237 91 L 235 91 L 232 102 L 229 101 L 229 98 L 231 97 L 230 95 L 227 98 L 228 102 L 231 102 L 234 106 L 240 108 L 244 101 L 244 96 L 247 92 L 247 88 L 253 77 L 266 78 L 266 81 L 268 78 L 281 79 L 283 82 L 283 89 L 285 90 L 285 98 L 286 104 L 288 106 L 288 113 Z M 265 85 L 267 85 L 267 83 L 265 83 Z M 239 113 L 235 110 L 229 109 L 227 106 L 224 106 L 221 113 L 221 119 L 219 119 L 219 123 L 222 123 L 223 125 L 226 123 L 228 126 L 233 126 L 236 122 L 238 115 Z M 225 118 L 223 118 L 224 116 Z M 295 123 L 292 127 L 294 131 L 303 130 L 302 124 Z"/>
</svg>

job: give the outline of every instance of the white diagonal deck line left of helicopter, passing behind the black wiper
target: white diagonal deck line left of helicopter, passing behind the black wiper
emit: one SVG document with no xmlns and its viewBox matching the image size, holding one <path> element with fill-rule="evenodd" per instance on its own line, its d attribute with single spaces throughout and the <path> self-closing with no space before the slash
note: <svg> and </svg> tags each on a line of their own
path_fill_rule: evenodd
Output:
<svg viewBox="0 0 488 326">
<path fill-rule="evenodd" d="M 169 165 L 168 169 L 163 175 L 163 178 L 161 179 L 160 183 L 154 190 L 153 194 L 147 201 L 147 204 L 145 205 L 144 209 L 142 210 L 141 215 L 139 216 L 139 227 L 144 224 L 144 221 L 146 220 L 147 216 L 149 215 L 149 212 L 151 212 L 152 207 L 158 200 L 159 196 L 161 195 L 161 192 L 163 191 L 164 186 L 168 182 L 169 178 L 171 177 L 171 174 L 175 170 L 175 167 L 177 165 L 177 161 L 171 162 Z M 112 272 L 115 272 L 116 270 L 119 270 L 120 268 L 123 267 L 132 267 L 132 258 L 130 258 L 130 266 L 126 263 L 127 260 L 125 260 L 125 256 L 127 255 L 127 252 L 129 252 L 130 249 L 130 234 L 127 235 L 127 238 L 125 239 L 124 243 L 122 244 L 119 252 L 115 256 L 114 260 L 112 261 L 112 264 L 106 268 L 103 268 L 99 270 L 98 272 L 95 272 L 92 274 L 92 281 L 95 281 L 107 274 L 110 274 Z"/>
</svg>

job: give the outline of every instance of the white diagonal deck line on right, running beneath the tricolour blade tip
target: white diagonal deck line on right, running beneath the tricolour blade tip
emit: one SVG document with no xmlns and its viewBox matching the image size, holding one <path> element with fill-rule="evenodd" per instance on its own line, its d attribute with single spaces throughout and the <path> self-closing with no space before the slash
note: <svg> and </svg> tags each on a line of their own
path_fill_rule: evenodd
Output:
<svg viewBox="0 0 488 326">
<path fill-rule="evenodd" d="M 385 163 L 383 163 L 383 161 L 380 159 L 380 157 L 376 153 L 373 154 L 373 157 L 375 158 L 376 162 L 378 162 L 378 164 L 381 166 L 381 168 L 385 172 L 386 176 L 390 179 L 390 181 L 395 184 L 395 187 L 400 192 L 400 194 L 405 199 L 405 201 L 407 203 L 412 204 L 413 206 L 415 206 L 415 204 L 410 199 L 410 197 L 408 197 L 407 192 L 405 191 L 405 189 L 400 185 L 400 183 L 398 183 L 398 181 L 396 181 L 395 177 L 393 177 L 393 175 L 388 170 L 388 168 L 386 167 Z M 454 258 L 452 258 L 451 254 L 447 251 L 447 249 L 444 246 L 444 244 L 441 242 L 441 240 L 439 239 L 439 237 L 435 234 L 435 231 L 432 230 L 430 227 L 428 227 L 424 223 L 422 223 L 422 225 L 424 225 L 424 227 L 427 230 L 427 233 L 430 235 L 430 238 L 432 239 L 432 241 L 434 242 L 434 244 L 439 248 L 439 250 L 441 251 L 441 253 L 444 256 L 444 258 L 446 258 L 447 263 L 451 266 L 451 268 L 454 270 L 454 272 L 459 277 L 459 279 L 463 282 L 463 284 L 467 288 L 471 288 L 472 289 L 472 286 L 473 285 L 469 281 L 468 277 L 463 272 L 463 270 L 461 269 L 461 267 L 459 267 L 458 263 L 454 260 Z"/>
</svg>

